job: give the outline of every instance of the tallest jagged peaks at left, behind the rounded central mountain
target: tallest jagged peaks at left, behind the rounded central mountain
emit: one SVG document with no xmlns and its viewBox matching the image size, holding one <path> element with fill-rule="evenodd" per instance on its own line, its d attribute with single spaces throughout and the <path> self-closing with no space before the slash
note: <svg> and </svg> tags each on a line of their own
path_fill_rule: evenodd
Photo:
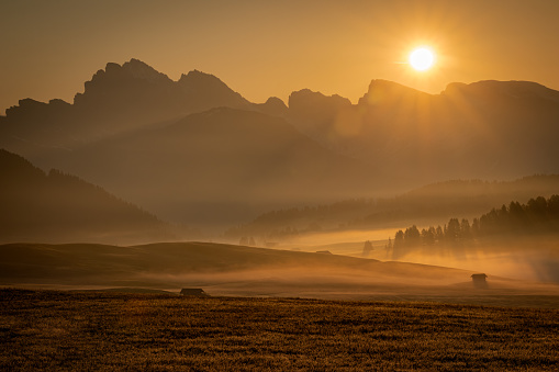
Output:
<svg viewBox="0 0 559 372">
<path fill-rule="evenodd" d="M 24 99 L 8 109 L 0 116 L 0 147 L 49 168 L 53 157 L 91 142 L 216 106 L 250 103 L 213 75 L 194 70 L 172 81 L 137 59 L 109 63 L 71 104 Z"/>
</svg>

